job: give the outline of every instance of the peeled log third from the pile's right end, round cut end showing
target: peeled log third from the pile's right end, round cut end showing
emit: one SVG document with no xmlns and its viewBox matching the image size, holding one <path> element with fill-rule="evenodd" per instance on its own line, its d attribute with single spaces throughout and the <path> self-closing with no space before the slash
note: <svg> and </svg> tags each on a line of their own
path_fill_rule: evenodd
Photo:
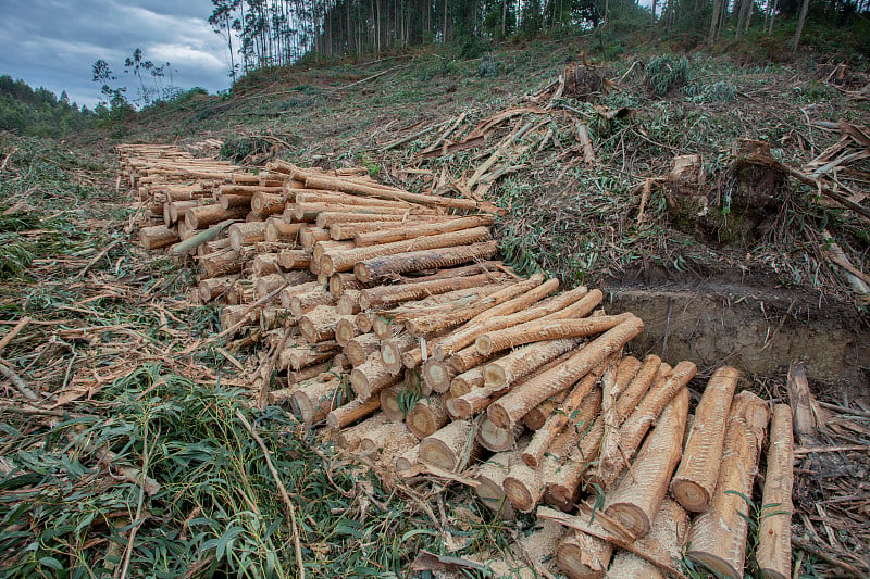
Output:
<svg viewBox="0 0 870 579">
<path fill-rule="evenodd" d="M 741 374 L 729 366 L 717 369 L 695 410 L 680 468 L 671 482 L 671 494 L 683 508 L 704 513 L 719 478 L 725 423 Z"/>
</svg>

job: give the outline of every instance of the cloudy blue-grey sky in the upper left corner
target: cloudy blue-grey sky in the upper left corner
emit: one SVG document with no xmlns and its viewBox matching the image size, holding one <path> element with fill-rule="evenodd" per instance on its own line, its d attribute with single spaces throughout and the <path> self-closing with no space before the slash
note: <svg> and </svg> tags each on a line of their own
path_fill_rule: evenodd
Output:
<svg viewBox="0 0 870 579">
<path fill-rule="evenodd" d="M 124 59 L 141 48 L 145 58 L 172 63 L 174 84 L 209 92 L 229 85 L 229 56 L 208 24 L 211 0 L 0 0 L 0 75 L 23 78 L 70 100 L 94 106 L 91 81 L 98 59 L 109 62 L 119 84 Z"/>
</svg>

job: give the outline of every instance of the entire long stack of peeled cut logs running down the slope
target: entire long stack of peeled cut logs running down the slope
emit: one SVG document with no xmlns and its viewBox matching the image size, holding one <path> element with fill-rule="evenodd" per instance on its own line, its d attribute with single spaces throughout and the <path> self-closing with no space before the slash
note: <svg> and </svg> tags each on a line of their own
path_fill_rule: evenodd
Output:
<svg viewBox="0 0 870 579">
<path fill-rule="evenodd" d="M 199 298 L 226 304 L 222 333 L 274 352 L 261 403 L 289 404 L 403 477 L 568 527 L 540 552 L 571 577 L 683 576 L 686 544 L 695 564 L 743 576 L 770 410 L 735 394 L 736 369 L 719 368 L 689 415 L 695 364 L 625 355 L 638 317 L 493 261 L 483 202 L 364 169 L 274 162 L 254 175 L 174 147 L 120 152 L 141 244 L 195 255 Z M 275 372 L 286 387 L 270 392 Z M 753 557 L 788 577 L 792 415 L 772 414 Z M 536 569 L 552 566 L 542 557 Z"/>
</svg>

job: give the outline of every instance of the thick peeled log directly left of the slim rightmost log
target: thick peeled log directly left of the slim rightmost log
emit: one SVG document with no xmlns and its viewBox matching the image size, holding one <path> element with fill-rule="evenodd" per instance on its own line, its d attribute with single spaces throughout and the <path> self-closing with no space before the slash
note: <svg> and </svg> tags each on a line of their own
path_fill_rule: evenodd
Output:
<svg viewBox="0 0 870 579">
<path fill-rule="evenodd" d="M 710 508 L 688 531 L 686 556 L 719 577 L 743 578 L 749 513 L 744 496 L 753 494 L 768 414 L 767 403 L 751 392 L 734 397 Z"/>
</svg>

